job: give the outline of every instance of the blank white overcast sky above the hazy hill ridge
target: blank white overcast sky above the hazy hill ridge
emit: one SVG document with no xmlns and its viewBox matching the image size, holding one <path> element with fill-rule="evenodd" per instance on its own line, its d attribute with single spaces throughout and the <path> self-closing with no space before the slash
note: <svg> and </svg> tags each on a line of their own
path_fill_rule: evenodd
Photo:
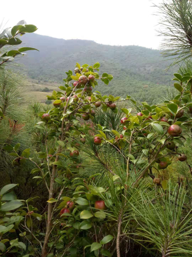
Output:
<svg viewBox="0 0 192 257">
<path fill-rule="evenodd" d="M 158 17 L 154 4 L 161 0 L 15 0 L 2 1 L 5 27 L 20 20 L 38 27 L 36 33 L 63 39 L 88 39 L 110 45 L 158 48 Z"/>
</svg>

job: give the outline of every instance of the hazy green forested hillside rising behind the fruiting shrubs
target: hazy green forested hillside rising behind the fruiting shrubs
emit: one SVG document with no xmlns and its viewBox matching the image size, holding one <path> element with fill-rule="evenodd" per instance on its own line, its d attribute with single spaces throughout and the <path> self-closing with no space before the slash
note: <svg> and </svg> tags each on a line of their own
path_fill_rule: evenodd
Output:
<svg viewBox="0 0 192 257">
<path fill-rule="evenodd" d="M 108 70 L 114 80 L 110 87 L 99 86 L 103 94 L 125 95 L 126 93 L 140 100 L 145 94 L 152 98 L 170 85 L 171 75 L 163 70 L 167 62 L 162 61 L 159 51 L 139 46 L 102 45 L 89 40 L 64 40 L 28 34 L 23 37 L 27 46 L 39 49 L 31 51 L 23 58 L 28 68 L 28 75 L 41 82 L 62 82 L 64 72 L 69 67 L 73 70 L 74 62 L 83 65 L 102 63 L 101 72 Z"/>
</svg>

